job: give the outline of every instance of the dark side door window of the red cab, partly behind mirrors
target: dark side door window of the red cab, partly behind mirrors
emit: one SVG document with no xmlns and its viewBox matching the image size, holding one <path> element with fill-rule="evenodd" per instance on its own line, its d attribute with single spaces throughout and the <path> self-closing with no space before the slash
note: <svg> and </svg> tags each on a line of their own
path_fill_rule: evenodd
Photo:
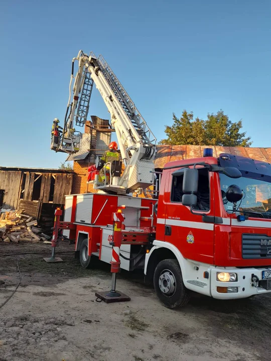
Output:
<svg viewBox="0 0 271 361">
<path fill-rule="evenodd" d="M 171 202 L 182 203 L 183 197 L 183 175 L 174 176 L 172 180 Z M 209 190 L 209 172 L 206 168 L 199 169 L 199 186 L 197 192 L 197 206 L 193 209 L 200 211 L 209 211 L 210 209 L 210 190 Z"/>
</svg>

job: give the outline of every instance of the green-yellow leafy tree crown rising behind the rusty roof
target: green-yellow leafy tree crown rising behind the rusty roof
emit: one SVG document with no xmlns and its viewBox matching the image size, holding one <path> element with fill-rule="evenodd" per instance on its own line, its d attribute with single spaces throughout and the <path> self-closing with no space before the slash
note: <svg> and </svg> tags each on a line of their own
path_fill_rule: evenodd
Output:
<svg viewBox="0 0 271 361">
<path fill-rule="evenodd" d="M 180 118 L 173 113 L 173 125 L 166 125 L 165 129 L 167 139 L 159 143 L 249 147 L 252 141 L 241 128 L 242 121 L 232 122 L 223 110 L 208 113 L 206 120 L 194 119 L 193 112 L 184 110 Z"/>
</svg>

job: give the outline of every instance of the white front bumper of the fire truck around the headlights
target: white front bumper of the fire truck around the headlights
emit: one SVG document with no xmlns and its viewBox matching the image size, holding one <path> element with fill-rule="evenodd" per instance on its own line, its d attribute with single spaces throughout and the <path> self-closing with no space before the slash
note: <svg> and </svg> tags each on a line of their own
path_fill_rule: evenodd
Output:
<svg viewBox="0 0 271 361">
<path fill-rule="evenodd" d="M 254 287 L 252 285 L 252 274 L 256 275 L 261 280 L 262 271 L 271 269 L 271 267 L 263 268 L 235 268 L 235 267 L 210 267 L 209 272 L 211 276 L 211 296 L 219 299 L 235 299 L 245 298 L 257 294 L 270 293 L 271 290 L 266 290 L 262 287 Z M 229 272 L 237 274 L 236 282 L 220 282 L 217 281 L 217 272 Z M 219 293 L 217 287 L 238 287 L 236 293 Z"/>
</svg>

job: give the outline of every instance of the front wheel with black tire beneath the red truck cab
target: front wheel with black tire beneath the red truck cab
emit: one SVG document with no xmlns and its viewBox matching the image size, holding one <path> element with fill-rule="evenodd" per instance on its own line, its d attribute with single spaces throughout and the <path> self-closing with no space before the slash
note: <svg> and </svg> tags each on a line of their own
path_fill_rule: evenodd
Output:
<svg viewBox="0 0 271 361">
<path fill-rule="evenodd" d="M 158 263 L 154 273 L 154 288 L 160 301 L 168 308 L 185 306 L 190 298 L 179 263 L 175 259 Z"/>
</svg>

